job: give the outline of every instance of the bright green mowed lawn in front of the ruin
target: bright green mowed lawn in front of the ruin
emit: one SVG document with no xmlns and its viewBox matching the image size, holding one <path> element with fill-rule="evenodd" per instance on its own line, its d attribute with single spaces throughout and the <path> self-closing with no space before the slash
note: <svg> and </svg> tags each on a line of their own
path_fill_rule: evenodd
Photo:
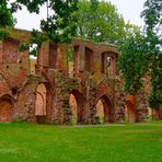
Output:
<svg viewBox="0 0 162 162">
<path fill-rule="evenodd" d="M 162 162 L 162 123 L 0 124 L 0 162 Z"/>
</svg>

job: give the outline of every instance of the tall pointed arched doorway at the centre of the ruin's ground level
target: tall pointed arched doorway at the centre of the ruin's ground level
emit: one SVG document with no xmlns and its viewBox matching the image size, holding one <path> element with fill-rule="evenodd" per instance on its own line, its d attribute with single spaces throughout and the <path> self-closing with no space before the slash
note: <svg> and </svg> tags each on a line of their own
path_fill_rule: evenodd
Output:
<svg viewBox="0 0 162 162">
<path fill-rule="evenodd" d="M 72 90 L 69 99 L 72 124 L 84 123 L 84 104 L 85 100 L 83 95 L 78 90 Z"/>
</svg>

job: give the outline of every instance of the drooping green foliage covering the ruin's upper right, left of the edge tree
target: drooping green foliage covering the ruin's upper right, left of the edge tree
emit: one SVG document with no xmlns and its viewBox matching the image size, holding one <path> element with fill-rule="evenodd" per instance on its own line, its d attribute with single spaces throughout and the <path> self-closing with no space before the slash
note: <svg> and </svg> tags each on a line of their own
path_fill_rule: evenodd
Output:
<svg viewBox="0 0 162 162">
<path fill-rule="evenodd" d="M 147 62 L 143 49 L 144 37 L 137 31 L 120 46 L 118 68 L 125 78 L 125 91 L 136 94 L 141 88 L 141 77 L 146 72 Z M 147 49 L 147 48 L 146 48 Z"/>
</svg>

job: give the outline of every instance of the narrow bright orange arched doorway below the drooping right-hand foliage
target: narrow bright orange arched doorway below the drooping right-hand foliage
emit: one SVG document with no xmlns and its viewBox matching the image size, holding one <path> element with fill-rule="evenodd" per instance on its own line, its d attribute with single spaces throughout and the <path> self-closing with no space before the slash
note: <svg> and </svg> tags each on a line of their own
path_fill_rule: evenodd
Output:
<svg viewBox="0 0 162 162">
<path fill-rule="evenodd" d="M 126 100 L 126 113 L 129 123 L 136 121 L 136 106 L 135 106 L 135 97 L 129 96 Z"/>
</svg>

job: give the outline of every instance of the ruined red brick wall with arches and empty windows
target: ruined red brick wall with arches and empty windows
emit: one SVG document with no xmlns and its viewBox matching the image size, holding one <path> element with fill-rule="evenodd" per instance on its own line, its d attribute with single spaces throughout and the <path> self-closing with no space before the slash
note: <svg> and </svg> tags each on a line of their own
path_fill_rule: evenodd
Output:
<svg viewBox="0 0 162 162">
<path fill-rule="evenodd" d="M 70 94 L 77 103 L 77 124 L 97 124 L 99 102 L 103 123 L 147 118 L 146 91 L 135 101 L 123 91 L 116 46 L 83 39 L 71 45 L 45 43 L 35 60 L 28 51 L 19 51 L 19 39 L 0 42 L 0 121 L 71 124 Z"/>
</svg>

